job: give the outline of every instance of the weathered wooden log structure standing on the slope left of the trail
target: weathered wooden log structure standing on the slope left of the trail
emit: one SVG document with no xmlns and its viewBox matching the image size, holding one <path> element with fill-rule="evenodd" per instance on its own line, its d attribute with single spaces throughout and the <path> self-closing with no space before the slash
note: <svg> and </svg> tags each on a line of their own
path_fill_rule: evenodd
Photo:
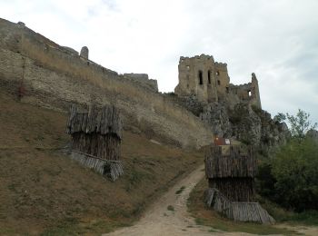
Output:
<svg viewBox="0 0 318 236">
<path fill-rule="evenodd" d="M 113 181 L 124 173 L 119 161 L 122 122 L 114 106 L 81 110 L 72 105 L 66 133 L 72 135 L 72 158 Z"/>
</svg>

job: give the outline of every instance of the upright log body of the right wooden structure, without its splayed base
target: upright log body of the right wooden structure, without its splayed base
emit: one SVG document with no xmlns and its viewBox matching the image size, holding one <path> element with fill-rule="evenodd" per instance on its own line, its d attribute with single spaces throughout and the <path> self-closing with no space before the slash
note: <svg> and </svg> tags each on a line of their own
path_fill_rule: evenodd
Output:
<svg viewBox="0 0 318 236">
<path fill-rule="evenodd" d="M 253 200 L 256 159 L 252 147 L 244 151 L 240 146 L 229 146 L 224 154 L 221 146 L 211 146 L 205 154 L 205 174 L 209 187 L 218 189 L 229 200 Z"/>
</svg>

